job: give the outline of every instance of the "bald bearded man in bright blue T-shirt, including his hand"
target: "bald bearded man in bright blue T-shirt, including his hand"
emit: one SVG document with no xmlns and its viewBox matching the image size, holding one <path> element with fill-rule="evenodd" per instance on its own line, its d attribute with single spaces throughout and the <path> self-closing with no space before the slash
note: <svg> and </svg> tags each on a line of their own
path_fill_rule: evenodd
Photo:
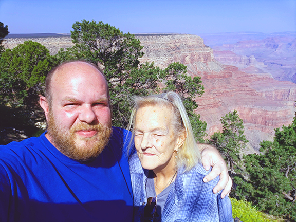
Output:
<svg viewBox="0 0 296 222">
<path fill-rule="evenodd" d="M 84 61 L 55 67 L 40 105 L 47 132 L 0 146 L 0 221 L 132 221 L 124 153 L 131 135 L 112 127 L 102 72 Z M 221 165 L 215 151 L 204 156 L 209 153 Z"/>
</svg>

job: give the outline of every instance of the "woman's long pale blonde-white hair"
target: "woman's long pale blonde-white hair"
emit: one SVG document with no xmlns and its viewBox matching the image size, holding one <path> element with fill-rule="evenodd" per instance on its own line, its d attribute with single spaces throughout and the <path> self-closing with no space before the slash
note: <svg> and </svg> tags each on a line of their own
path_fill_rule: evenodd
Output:
<svg viewBox="0 0 296 222">
<path fill-rule="evenodd" d="M 200 161 L 201 157 L 194 139 L 190 120 L 180 96 L 177 93 L 169 92 L 147 97 L 134 97 L 134 108 L 129 124 L 129 130 L 132 130 L 132 138 L 135 136 L 133 126 L 135 124 L 136 113 L 141 107 L 145 106 L 167 106 L 168 108 L 172 108 L 173 117 L 171 121 L 175 136 L 179 136 L 186 131 L 186 139 L 178 150 L 176 168 L 184 167 L 185 171 L 191 170 Z M 130 144 L 129 149 L 131 149 L 131 146 L 132 144 Z"/>
</svg>

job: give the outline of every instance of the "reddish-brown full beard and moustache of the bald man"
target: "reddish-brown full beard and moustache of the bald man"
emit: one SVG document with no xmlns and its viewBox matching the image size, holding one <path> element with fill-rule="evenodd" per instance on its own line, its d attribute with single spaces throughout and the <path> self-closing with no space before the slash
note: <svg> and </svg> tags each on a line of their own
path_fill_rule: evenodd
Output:
<svg viewBox="0 0 296 222">
<path fill-rule="evenodd" d="M 102 153 L 112 134 L 111 121 L 108 125 L 80 122 L 73 125 L 70 130 L 65 130 L 55 121 L 52 112 L 49 112 L 47 126 L 47 132 L 54 146 L 67 157 L 80 161 L 94 159 Z M 82 138 L 76 134 L 79 130 L 95 130 L 98 133 L 93 137 Z"/>
</svg>

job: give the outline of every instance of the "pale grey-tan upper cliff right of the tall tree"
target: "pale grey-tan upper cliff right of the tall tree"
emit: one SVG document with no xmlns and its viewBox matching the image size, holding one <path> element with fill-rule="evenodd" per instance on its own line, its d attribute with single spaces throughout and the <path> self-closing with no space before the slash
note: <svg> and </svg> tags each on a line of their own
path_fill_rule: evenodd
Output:
<svg viewBox="0 0 296 222">
<path fill-rule="evenodd" d="M 172 62 L 187 65 L 190 73 L 220 71 L 220 63 L 214 60 L 213 50 L 204 40 L 191 34 L 137 35 L 143 46 L 141 62 L 155 62 L 161 68 Z"/>
</svg>

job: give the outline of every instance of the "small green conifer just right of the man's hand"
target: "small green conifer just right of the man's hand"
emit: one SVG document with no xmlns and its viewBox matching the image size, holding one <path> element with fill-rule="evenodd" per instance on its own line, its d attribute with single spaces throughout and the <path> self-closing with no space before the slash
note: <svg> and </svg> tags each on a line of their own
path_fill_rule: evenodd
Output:
<svg viewBox="0 0 296 222">
<path fill-rule="evenodd" d="M 234 165 L 239 165 L 239 160 L 241 160 L 239 154 L 248 142 L 244 135 L 243 120 L 234 110 L 222 117 L 221 123 L 223 131 L 215 132 L 209 142 L 217 147 L 228 162 L 231 171 L 234 171 Z"/>
</svg>

